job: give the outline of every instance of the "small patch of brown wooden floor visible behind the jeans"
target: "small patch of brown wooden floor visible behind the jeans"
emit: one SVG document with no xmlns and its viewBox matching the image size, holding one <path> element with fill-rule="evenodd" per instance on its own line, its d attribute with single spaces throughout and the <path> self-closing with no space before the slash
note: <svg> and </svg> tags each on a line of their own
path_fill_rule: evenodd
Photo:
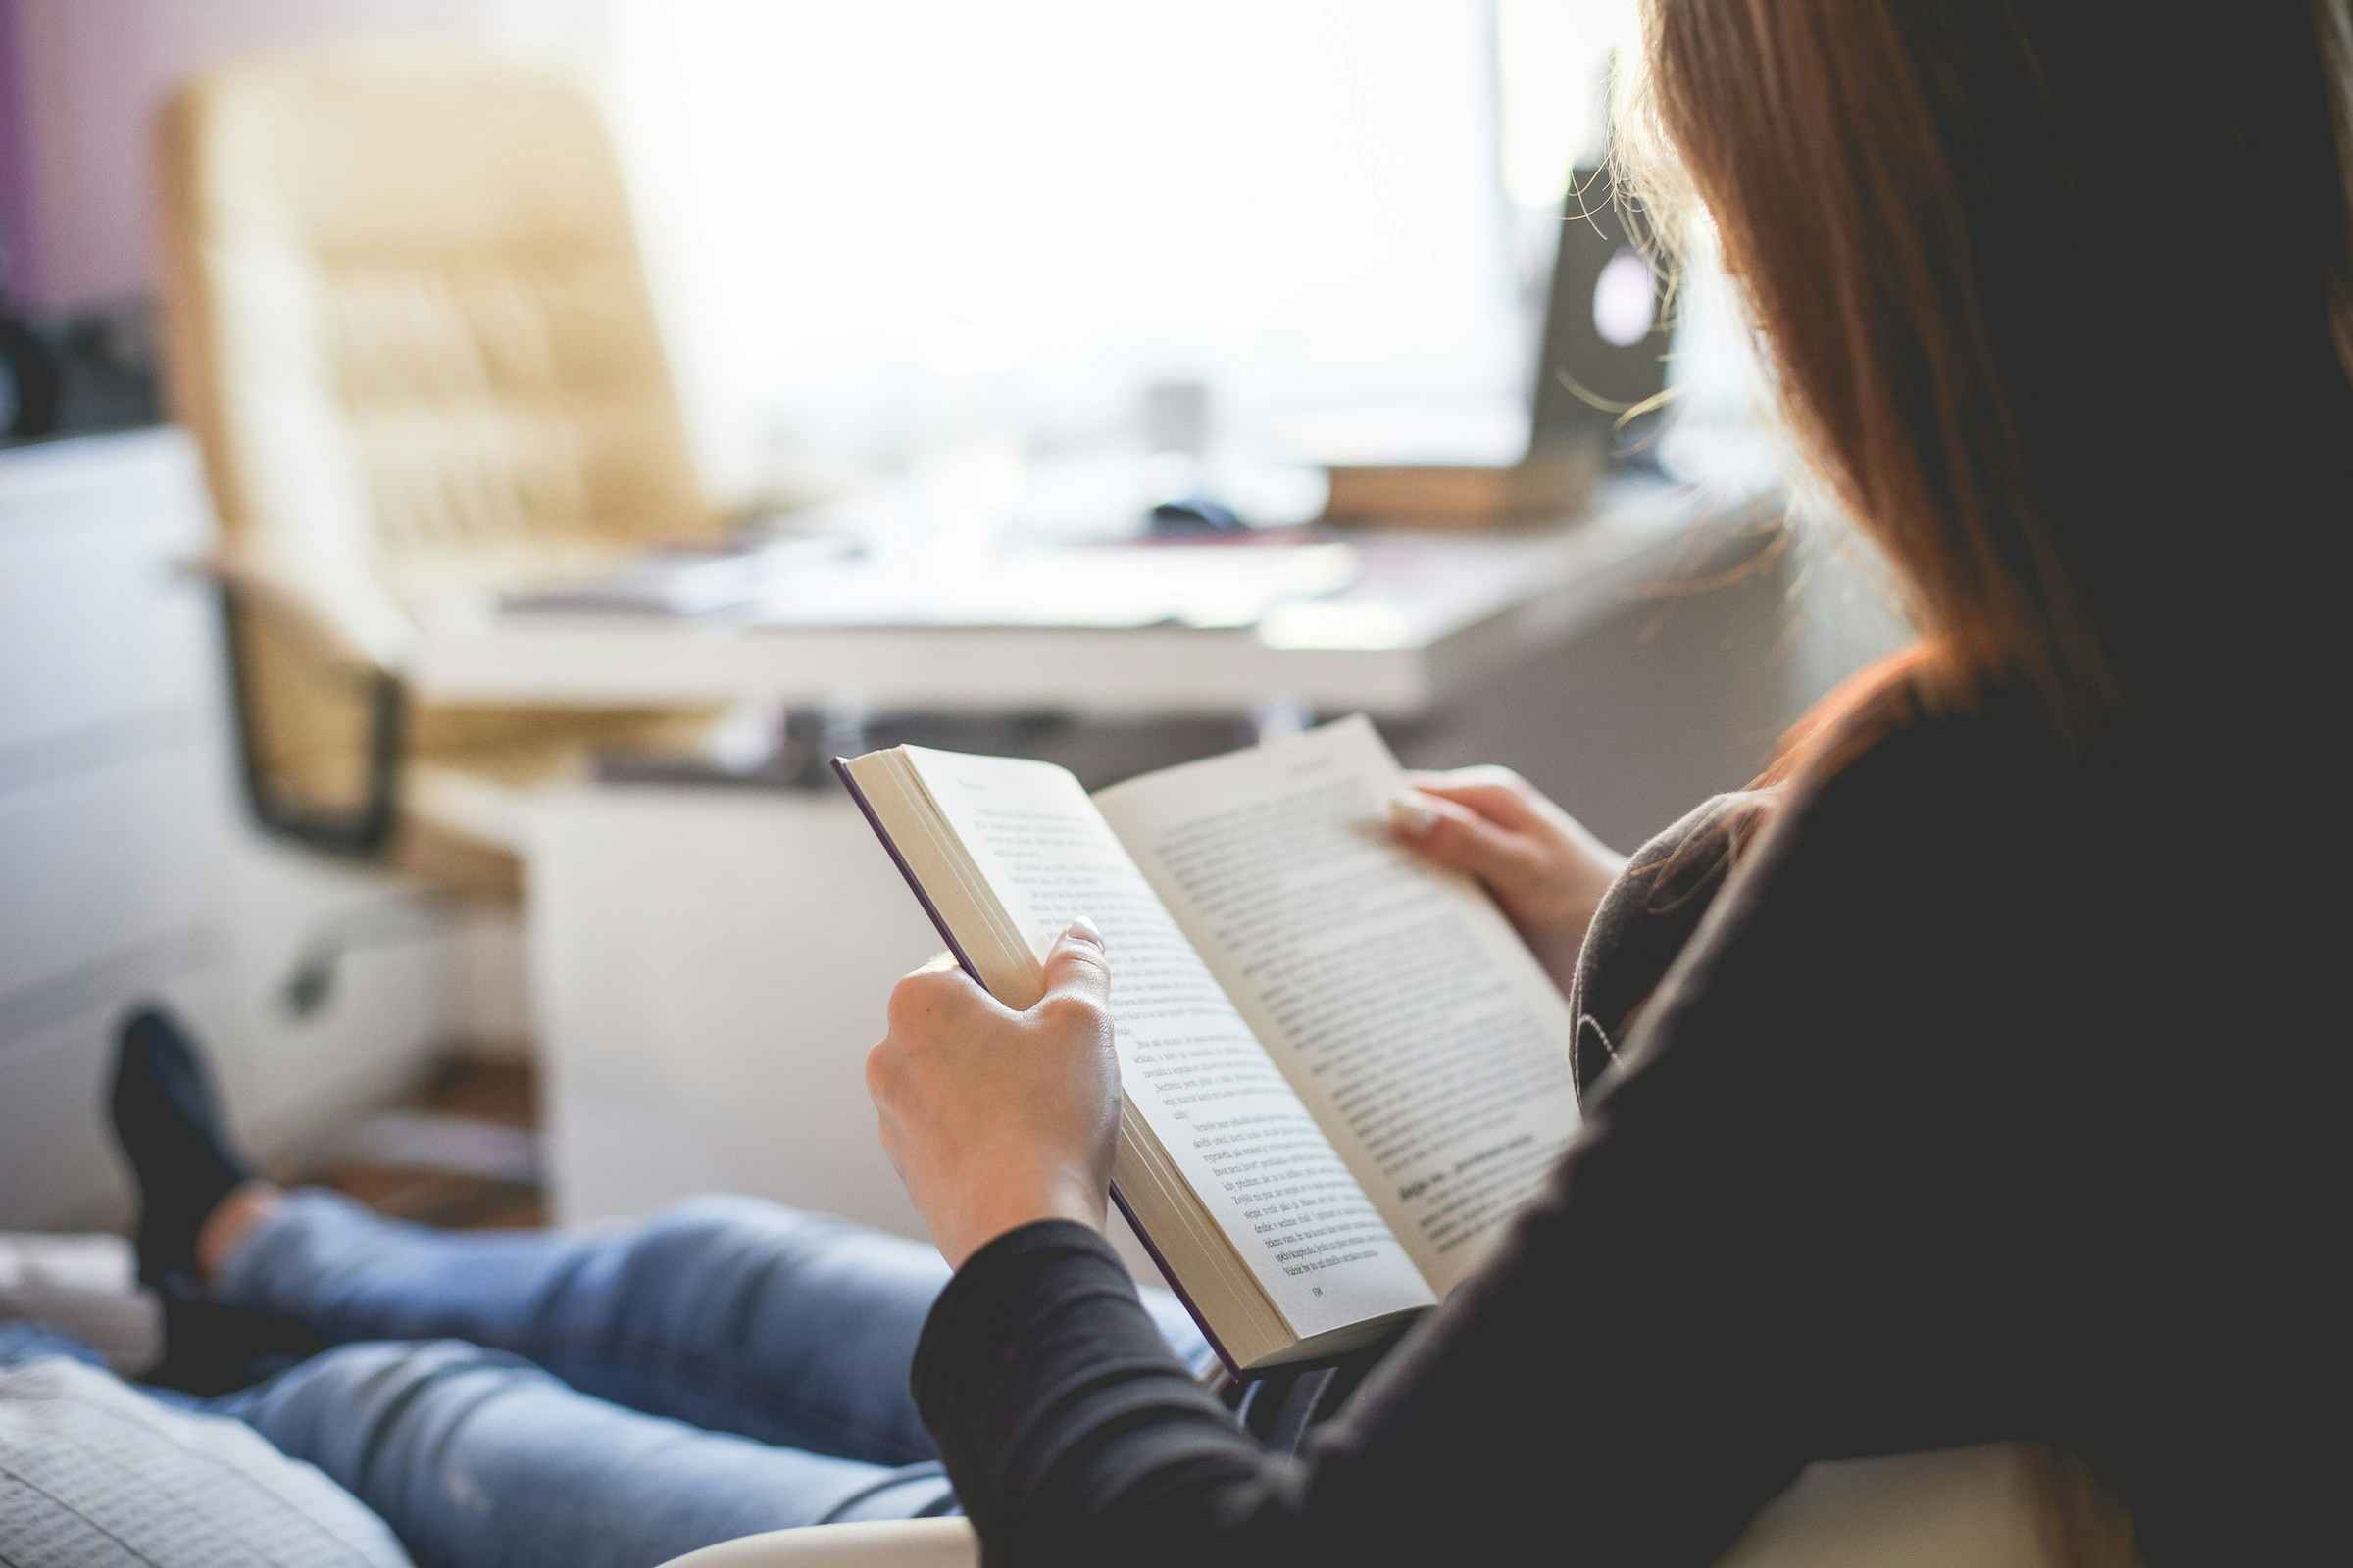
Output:
<svg viewBox="0 0 2353 1568">
<path fill-rule="evenodd" d="M 539 1084 L 520 1063 L 445 1063 L 407 1103 L 365 1121 L 306 1185 L 440 1229 L 546 1225 L 536 1168 Z"/>
</svg>

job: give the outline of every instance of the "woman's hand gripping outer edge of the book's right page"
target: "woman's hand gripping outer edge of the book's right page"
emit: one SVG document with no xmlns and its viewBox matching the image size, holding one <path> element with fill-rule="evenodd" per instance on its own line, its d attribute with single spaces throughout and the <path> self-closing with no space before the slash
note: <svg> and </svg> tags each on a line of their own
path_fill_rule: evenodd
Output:
<svg viewBox="0 0 2353 1568">
<path fill-rule="evenodd" d="M 1398 839 L 1478 877 L 1567 994 L 1586 926 L 1626 856 L 1511 769 L 1407 773 L 1405 785 L 1388 802 Z"/>
</svg>

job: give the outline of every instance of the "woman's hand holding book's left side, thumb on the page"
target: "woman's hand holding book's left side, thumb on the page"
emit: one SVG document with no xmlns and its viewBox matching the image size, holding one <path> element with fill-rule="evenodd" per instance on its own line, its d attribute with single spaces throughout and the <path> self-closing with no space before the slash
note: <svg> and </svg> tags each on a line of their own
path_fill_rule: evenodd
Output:
<svg viewBox="0 0 2353 1568">
<path fill-rule="evenodd" d="M 899 980 L 866 1091 L 882 1152 L 951 1267 L 1031 1220 L 1101 1229 L 1120 1128 L 1101 933 L 1092 922 L 1064 931 L 1026 1013 L 948 954 Z"/>
</svg>

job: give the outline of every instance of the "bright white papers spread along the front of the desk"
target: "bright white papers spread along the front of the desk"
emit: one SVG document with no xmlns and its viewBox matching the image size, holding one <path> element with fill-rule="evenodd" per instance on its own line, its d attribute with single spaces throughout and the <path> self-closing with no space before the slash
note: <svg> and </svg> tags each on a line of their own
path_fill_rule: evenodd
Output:
<svg viewBox="0 0 2353 1568">
<path fill-rule="evenodd" d="M 1278 604 L 1341 592 L 1351 545 L 1089 545 L 962 571 L 833 567 L 795 574 L 751 618 L 779 628 L 1257 625 Z"/>
</svg>

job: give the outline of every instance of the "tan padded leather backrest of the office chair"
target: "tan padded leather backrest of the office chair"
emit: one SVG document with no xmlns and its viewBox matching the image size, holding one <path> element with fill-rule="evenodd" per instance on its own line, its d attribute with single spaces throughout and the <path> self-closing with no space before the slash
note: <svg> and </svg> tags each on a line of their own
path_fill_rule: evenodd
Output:
<svg viewBox="0 0 2353 1568">
<path fill-rule="evenodd" d="M 191 80 L 158 155 L 174 402 L 235 548 L 398 602 L 715 529 L 569 78 L 266 54 Z"/>
</svg>

